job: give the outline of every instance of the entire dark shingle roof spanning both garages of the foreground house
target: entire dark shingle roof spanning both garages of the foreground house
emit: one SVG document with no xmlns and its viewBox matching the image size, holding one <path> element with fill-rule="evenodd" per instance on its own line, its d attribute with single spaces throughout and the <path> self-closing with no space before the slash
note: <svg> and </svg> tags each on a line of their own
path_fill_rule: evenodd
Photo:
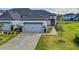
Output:
<svg viewBox="0 0 79 59">
<path fill-rule="evenodd" d="M 29 8 L 14 8 L 8 10 L 6 13 L 0 16 L 0 18 L 50 18 L 50 16 L 55 16 L 54 13 L 50 13 L 45 10 L 31 10 Z"/>
</svg>

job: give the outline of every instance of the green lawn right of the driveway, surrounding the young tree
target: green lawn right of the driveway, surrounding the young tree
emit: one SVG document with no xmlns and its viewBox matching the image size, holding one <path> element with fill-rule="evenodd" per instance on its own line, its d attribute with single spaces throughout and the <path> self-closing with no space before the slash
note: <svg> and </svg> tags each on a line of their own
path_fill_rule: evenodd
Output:
<svg viewBox="0 0 79 59">
<path fill-rule="evenodd" d="M 79 23 L 66 23 L 63 24 L 63 28 L 63 40 L 65 43 L 59 42 L 61 39 L 60 32 L 58 32 L 57 36 L 42 35 L 37 44 L 36 50 L 79 50 L 79 46 L 73 42 L 75 34 L 79 33 Z"/>
</svg>

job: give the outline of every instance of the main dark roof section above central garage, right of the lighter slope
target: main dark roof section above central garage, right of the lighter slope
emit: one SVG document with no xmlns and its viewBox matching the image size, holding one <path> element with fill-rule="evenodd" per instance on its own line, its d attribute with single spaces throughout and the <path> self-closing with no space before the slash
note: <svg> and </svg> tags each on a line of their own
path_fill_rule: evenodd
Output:
<svg viewBox="0 0 79 59">
<path fill-rule="evenodd" d="M 17 12 L 21 18 L 50 18 L 55 15 L 45 10 L 31 10 L 29 8 L 15 8 L 12 11 Z"/>
</svg>

